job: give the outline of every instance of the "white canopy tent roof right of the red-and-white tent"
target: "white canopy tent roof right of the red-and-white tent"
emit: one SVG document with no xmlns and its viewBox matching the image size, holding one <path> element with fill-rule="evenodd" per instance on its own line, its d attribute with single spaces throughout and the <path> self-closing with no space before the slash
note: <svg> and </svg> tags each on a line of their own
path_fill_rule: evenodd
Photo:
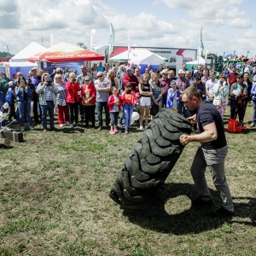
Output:
<svg viewBox="0 0 256 256">
<path fill-rule="evenodd" d="M 137 65 L 160 65 L 164 64 L 167 59 L 154 54 L 148 49 L 131 49 L 130 53 L 125 50 L 125 52 L 113 56 L 108 61 L 130 61 Z"/>
</svg>

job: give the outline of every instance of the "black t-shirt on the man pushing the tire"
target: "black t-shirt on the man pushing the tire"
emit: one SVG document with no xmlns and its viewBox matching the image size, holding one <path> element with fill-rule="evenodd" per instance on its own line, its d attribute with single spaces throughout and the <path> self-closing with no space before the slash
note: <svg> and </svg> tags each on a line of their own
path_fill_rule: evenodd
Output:
<svg viewBox="0 0 256 256">
<path fill-rule="evenodd" d="M 223 119 L 218 113 L 218 110 L 210 102 L 202 102 L 201 106 L 197 108 L 196 120 L 199 131 L 203 132 L 203 127 L 205 125 L 212 124 L 215 122 L 218 137 L 216 140 L 210 143 L 201 143 L 202 148 L 207 149 L 217 149 L 224 148 L 227 145 L 226 137 L 224 134 L 224 124 Z"/>
</svg>

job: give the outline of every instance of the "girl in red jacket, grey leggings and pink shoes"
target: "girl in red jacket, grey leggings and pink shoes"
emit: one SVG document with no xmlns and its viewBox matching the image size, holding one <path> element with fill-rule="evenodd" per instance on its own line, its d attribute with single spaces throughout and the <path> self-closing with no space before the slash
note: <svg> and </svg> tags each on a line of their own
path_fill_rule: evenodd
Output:
<svg viewBox="0 0 256 256">
<path fill-rule="evenodd" d="M 119 111 L 121 110 L 120 97 L 116 87 L 112 87 L 112 95 L 108 98 L 108 108 L 111 116 L 111 127 L 109 133 L 111 135 L 118 133 L 117 125 L 119 119 Z"/>
</svg>

